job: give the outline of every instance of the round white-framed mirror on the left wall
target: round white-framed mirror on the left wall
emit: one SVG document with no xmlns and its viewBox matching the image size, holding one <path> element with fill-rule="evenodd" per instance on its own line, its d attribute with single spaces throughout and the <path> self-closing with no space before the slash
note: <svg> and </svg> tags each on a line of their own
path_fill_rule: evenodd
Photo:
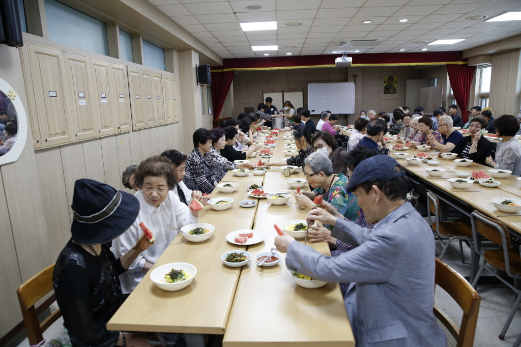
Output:
<svg viewBox="0 0 521 347">
<path fill-rule="evenodd" d="M 15 162 L 26 139 L 26 111 L 18 93 L 0 78 L 0 165 Z"/>
</svg>

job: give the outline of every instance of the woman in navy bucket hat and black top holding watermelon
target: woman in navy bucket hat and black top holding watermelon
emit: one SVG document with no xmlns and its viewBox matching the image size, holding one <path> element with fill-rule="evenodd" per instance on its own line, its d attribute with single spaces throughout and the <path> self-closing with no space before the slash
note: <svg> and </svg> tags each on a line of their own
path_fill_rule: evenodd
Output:
<svg viewBox="0 0 521 347">
<path fill-rule="evenodd" d="M 81 179 L 75 183 L 71 207 L 72 238 L 56 261 L 53 286 L 72 346 L 150 347 L 140 333 L 106 327 L 123 302 L 119 275 L 151 245 L 143 234 L 116 259 L 107 244 L 138 217 L 138 199 L 110 185 Z"/>
</svg>

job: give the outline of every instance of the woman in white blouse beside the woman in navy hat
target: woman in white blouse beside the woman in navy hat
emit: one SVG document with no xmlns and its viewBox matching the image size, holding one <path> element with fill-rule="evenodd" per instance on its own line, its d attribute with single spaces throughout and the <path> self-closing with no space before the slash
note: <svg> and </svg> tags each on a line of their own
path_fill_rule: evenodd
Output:
<svg viewBox="0 0 521 347">
<path fill-rule="evenodd" d="M 177 231 L 168 228 L 168 224 L 181 228 L 199 219 L 199 211 L 193 212 L 172 191 L 177 184 L 177 172 L 170 159 L 154 156 L 143 160 L 135 173 L 135 184 L 140 188 L 135 193 L 140 203 L 138 218 L 112 242 L 111 251 L 116 257 L 127 253 L 143 233 L 139 226 L 141 222 L 152 230 L 156 241 L 119 276 L 123 294 L 130 293 L 138 285 L 177 236 Z"/>
</svg>

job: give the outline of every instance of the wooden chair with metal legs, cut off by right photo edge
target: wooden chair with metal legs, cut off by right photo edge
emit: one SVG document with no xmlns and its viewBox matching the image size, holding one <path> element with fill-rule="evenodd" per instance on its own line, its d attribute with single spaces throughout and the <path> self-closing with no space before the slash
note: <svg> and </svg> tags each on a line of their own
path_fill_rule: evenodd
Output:
<svg viewBox="0 0 521 347">
<path fill-rule="evenodd" d="M 470 221 L 472 222 L 474 250 L 483 257 L 483 262 L 472 282 L 472 286 L 476 288 L 481 272 L 487 270 L 503 282 L 508 288 L 512 289 L 517 295 L 517 299 L 510 311 L 510 315 L 503 326 L 503 330 L 501 330 L 501 333 L 499 334 L 499 339 L 504 340 L 506 330 L 510 326 L 512 318 L 514 318 L 519 303 L 521 303 L 521 290 L 516 289 L 512 284 L 498 275 L 495 269 L 506 272 L 506 274 L 511 278 L 521 279 L 521 247 L 519 250 L 517 248 L 512 249 L 510 231 L 508 231 L 508 228 L 502 222 L 489 218 L 476 210 L 470 214 Z M 478 234 L 499 245 L 500 248 L 482 250 L 481 247 L 477 245 Z"/>
</svg>

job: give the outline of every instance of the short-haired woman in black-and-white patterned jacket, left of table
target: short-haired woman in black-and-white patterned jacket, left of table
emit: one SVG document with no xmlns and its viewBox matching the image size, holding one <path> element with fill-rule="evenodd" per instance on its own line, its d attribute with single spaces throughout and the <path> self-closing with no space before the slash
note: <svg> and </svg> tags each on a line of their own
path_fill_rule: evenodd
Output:
<svg viewBox="0 0 521 347">
<path fill-rule="evenodd" d="M 205 128 L 195 130 L 192 136 L 194 149 L 187 158 L 184 176 L 184 184 L 190 190 L 210 194 L 217 185 L 214 172 L 204 159 L 204 155 L 212 149 L 213 138 L 212 133 Z"/>
</svg>

